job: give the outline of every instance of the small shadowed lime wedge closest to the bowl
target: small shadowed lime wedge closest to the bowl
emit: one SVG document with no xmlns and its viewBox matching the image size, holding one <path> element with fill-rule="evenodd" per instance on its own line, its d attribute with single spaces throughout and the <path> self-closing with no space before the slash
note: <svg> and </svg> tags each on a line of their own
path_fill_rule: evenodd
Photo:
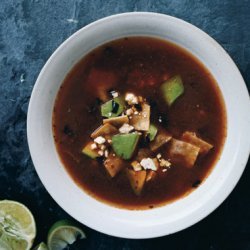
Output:
<svg viewBox="0 0 250 250">
<path fill-rule="evenodd" d="M 60 220 L 50 228 L 47 243 L 50 250 L 62 250 L 77 239 L 83 238 L 86 236 L 76 224 L 68 220 Z"/>
</svg>

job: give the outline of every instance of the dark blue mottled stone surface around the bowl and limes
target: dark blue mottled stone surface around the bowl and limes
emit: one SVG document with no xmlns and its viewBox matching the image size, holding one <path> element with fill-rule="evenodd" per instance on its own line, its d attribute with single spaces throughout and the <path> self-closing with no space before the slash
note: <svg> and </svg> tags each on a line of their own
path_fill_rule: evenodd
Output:
<svg viewBox="0 0 250 250">
<path fill-rule="evenodd" d="M 46 239 L 54 221 L 69 216 L 47 193 L 30 159 L 26 115 L 33 85 L 48 57 L 72 33 L 127 11 L 165 13 L 203 29 L 229 52 L 250 87 L 249 0 L 1 0 L 0 199 L 30 207 L 37 221 L 36 242 Z M 189 229 L 152 240 L 126 240 L 83 226 L 88 239 L 70 249 L 250 249 L 249 167 L 230 197 Z"/>
</svg>

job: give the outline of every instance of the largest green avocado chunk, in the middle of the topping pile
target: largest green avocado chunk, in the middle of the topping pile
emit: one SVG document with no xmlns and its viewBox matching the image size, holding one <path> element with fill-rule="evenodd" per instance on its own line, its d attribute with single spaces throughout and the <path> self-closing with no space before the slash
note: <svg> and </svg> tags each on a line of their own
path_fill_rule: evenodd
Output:
<svg viewBox="0 0 250 250">
<path fill-rule="evenodd" d="M 129 160 L 136 150 L 139 138 L 139 133 L 114 135 L 112 137 L 112 148 L 116 155 Z"/>
</svg>

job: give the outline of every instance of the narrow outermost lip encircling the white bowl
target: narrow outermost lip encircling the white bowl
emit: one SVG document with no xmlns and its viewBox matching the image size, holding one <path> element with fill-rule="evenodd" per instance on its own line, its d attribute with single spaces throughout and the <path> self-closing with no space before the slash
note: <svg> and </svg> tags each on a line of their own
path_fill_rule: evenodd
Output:
<svg viewBox="0 0 250 250">
<path fill-rule="evenodd" d="M 32 90 L 32 94 L 31 94 L 31 98 L 30 98 L 30 102 L 29 102 L 29 107 L 28 107 L 28 114 L 27 114 L 27 138 L 28 138 L 28 145 L 29 145 L 29 150 L 30 150 L 30 154 L 31 154 L 31 158 L 32 158 L 32 161 L 34 163 L 34 166 L 35 166 L 35 169 L 37 171 L 37 174 L 40 178 L 40 180 L 42 181 L 45 189 L 48 191 L 48 193 L 52 196 L 52 198 L 56 201 L 56 203 L 61 207 L 63 208 L 68 214 L 70 214 L 73 218 L 75 218 L 76 220 L 79 220 L 77 218 L 76 215 L 72 214 L 72 212 L 70 211 L 70 209 L 67 209 L 65 208 L 65 206 L 63 205 L 63 201 L 60 201 L 59 199 L 57 199 L 56 195 L 53 193 L 50 192 L 50 190 L 48 190 L 48 188 L 46 187 L 46 181 L 45 179 L 40 175 L 37 167 L 36 167 L 36 159 L 34 157 L 34 149 L 31 147 L 32 145 L 32 136 L 31 136 L 31 127 L 32 127 L 32 119 L 31 119 L 31 110 L 32 110 L 32 103 L 35 101 L 34 100 L 34 93 L 37 91 L 37 87 L 38 87 L 38 84 L 41 80 L 41 77 L 42 75 L 44 74 L 44 72 L 46 72 L 46 69 L 48 67 L 48 65 L 50 64 L 50 62 L 57 57 L 57 54 L 60 53 L 60 51 L 62 49 L 64 49 L 65 45 L 70 43 L 71 40 L 74 40 L 77 38 L 77 36 L 81 33 L 81 32 L 84 32 L 85 30 L 87 29 L 91 29 L 93 26 L 95 25 L 98 25 L 102 22 L 105 22 L 107 20 L 112 20 L 112 19 L 116 19 L 116 18 L 123 18 L 123 17 L 127 17 L 127 16 L 130 16 L 130 17 L 133 17 L 133 16 L 137 16 L 137 15 L 140 15 L 140 16 L 147 16 L 147 17 L 164 17 L 164 18 L 168 18 L 168 19 L 172 19 L 173 21 L 179 23 L 179 24 L 182 24 L 182 25 L 186 25 L 186 26 L 189 26 L 189 28 L 192 28 L 194 31 L 197 31 L 199 33 L 202 33 L 203 36 L 206 37 L 206 39 L 210 40 L 210 42 L 212 42 L 214 44 L 214 46 L 219 49 L 219 50 L 222 50 L 222 52 L 224 53 L 225 56 L 227 56 L 228 60 L 230 60 L 230 63 L 232 65 L 232 67 L 234 67 L 234 70 L 238 71 L 238 77 L 241 78 L 242 82 L 244 82 L 244 79 L 243 77 L 241 76 L 241 73 L 239 71 L 239 69 L 237 68 L 236 64 L 234 63 L 234 61 L 231 59 L 231 57 L 228 55 L 228 53 L 221 47 L 220 44 L 218 44 L 212 37 L 210 37 L 207 33 L 205 33 L 204 31 L 202 31 L 201 29 L 199 29 L 198 27 L 182 20 L 182 19 L 179 19 L 179 18 L 176 18 L 176 17 L 173 17 L 173 16 L 169 16 L 169 15 L 165 15 L 165 14 L 161 14 L 161 13 L 155 13 L 155 12 L 125 12 L 125 13 L 120 13 L 120 14 L 115 14 L 115 15 L 111 15 L 111 16 L 108 16 L 108 17 L 104 17 L 102 19 L 99 19 L 97 21 L 94 21 L 88 25 L 86 25 L 85 27 L 79 29 L 78 31 L 76 31 L 74 34 L 72 34 L 68 39 L 66 39 L 54 52 L 53 54 L 50 56 L 50 58 L 47 60 L 47 62 L 45 63 L 44 67 L 42 68 L 42 70 L 40 71 L 39 73 L 39 76 L 36 80 L 36 83 L 34 85 L 34 88 Z M 248 90 L 247 90 L 247 87 L 246 87 L 246 84 L 244 84 L 244 92 L 248 93 Z M 250 108 L 248 108 L 248 115 L 250 114 Z M 224 193 L 223 193 L 223 197 L 220 197 L 220 199 L 217 199 L 215 200 L 214 202 L 214 205 L 212 207 L 210 207 L 209 209 L 206 209 L 204 211 L 202 211 L 199 216 L 196 216 L 196 218 L 193 218 L 191 223 L 188 222 L 186 225 L 184 225 L 183 227 L 182 226 L 176 226 L 175 230 L 172 230 L 171 232 L 168 232 L 167 234 L 173 234 L 175 232 L 178 232 L 178 231 L 181 231 L 181 230 L 184 230 L 194 224 L 196 224 L 197 222 L 199 222 L 200 220 L 204 219 L 207 215 L 209 215 L 210 213 L 212 213 L 220 204 L 223 203 L 223 201 L 228 197 L 228 195 L 232 192 L 232 190 L 235 188 L 236 184 L 238 183 L 240 177 L 242 176 L 243 174 L 243 171 L 245 169 L 245 166 L 247 164 L 247 161 L 248 161 L 248 157 L 249 157 L 249 150 L 250 149 L 250 141 L 248 141 L 248 150 L 245 151 L 245 155 L 244 155 L 244 160 L 242 160 L 242 164 L 241 164 L 241 168 L 238 169 L 238 173 L 236 176 L 234 176 L 234 179 L 232 179 L 232 182 L 231 182 L 231 185 L 230 186 L 227 186 L 224 188 Z M 165 236 L 166 235 L 166 232 L 162 231 L 161 233 L 157 232 L 157 233 L 154 233 L 152 232 L 151 235 L 148 235 L 148 234 L 145 234 L 145 235 L 142 235 L 142 234 L 138 234 L 138 235 L 134 235 L 133 237 L 131 237 L 131 235 L 129 237 L 127 237 L 127 235 L 125 234 L 122 234 L 121 232 L 120 233 L 116 233 L 114 231 L 112 232 L 108 232 L 105 230 L 105 227 L 100 227 L 96 224 L 93 224 L 93 223 L 87 223 L 86 221 L 81 221 L 82 223 L 84 223 L 85 225 L 89 226 L 90 228 L 92 229 L 95 229 L 99 232 L 102 232 L 102 233 L 105 233 L 105 234 L 108 234 L 108 235 L 112 235 L 112 236 L 116 236 L 116 237 L 123 237 L 123 238 L 130 238 L 130 239 L 145 239 L 145 238 L 154 238 L 154 237 L 160 237 L 160 236 Z"/>
</svg>

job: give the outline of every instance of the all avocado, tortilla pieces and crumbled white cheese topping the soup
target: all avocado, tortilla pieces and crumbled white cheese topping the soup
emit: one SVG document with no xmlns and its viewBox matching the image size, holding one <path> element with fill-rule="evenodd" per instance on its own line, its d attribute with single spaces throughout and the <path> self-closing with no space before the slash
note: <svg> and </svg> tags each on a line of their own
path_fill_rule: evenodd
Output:
<svg viewBox="0 0 250 250">
<path fill-rule="evenodd" d="M 160 92 L 166 105 L 178 101 L 184 93 L 181 76 L 163 82 Z M 101 158 L 111 178 L 124 170 L 135 195 L 140 195 L 159 171 L 165 173 L 175 163 L 192 168 L 199 155 L 213 148 L 195 132 L 184 131 L 178 140 L 166 129 L 157 128 L 150 121 L 152 111 L 143 96 L 115 90 L 112 95 L 112 99 L 100 105 L 103 124 L 90 135 L 82 153 L 93 160 Z M 163 156 L 159 149 L 166 144 L 169 148 Z"/>
</svg>

